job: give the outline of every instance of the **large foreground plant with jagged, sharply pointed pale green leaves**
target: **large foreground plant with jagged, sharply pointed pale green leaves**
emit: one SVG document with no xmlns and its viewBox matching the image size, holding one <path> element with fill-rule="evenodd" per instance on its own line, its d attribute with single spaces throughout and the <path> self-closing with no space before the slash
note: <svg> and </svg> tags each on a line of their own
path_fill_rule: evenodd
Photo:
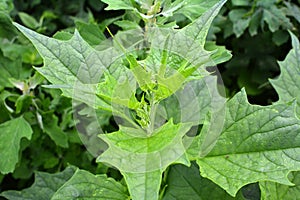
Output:
<svg viewBox="0 0 300 200">
<path fill-rule="evenodd" d="M 15 24 L 43 57 L 44 66 L 35 69 L 52 83 L 48 87 L 59 88 L 76 106 L 87 106 L 102 143 L 83 142 L 94 154 L 103 152 L 97 162 L 121 172 L 132 199 L 159 199 L 168 166 L 191 161 L 201 176 L 232 196 L 258 181 L 293 185 L 287 175 L 300 169 L 295 100 L 300 76 L 294 73 L 299 72 L 299 42 L 292 35 L 294 49 L 281 63 L 282 75 L 272 81 L 279 102 L 251 105 L 244 90 L 227 101 L 217 77 L 206 70 L 230 58 L 224 48 L 206 42 L 224 3 L 184 28 L 158 27 L 153 20 L 94 47 L 76 30 L 70 40 L 57 40 Z M 104 111 L 114 117 L 117 131 L 102 131 Z"/>
</svg>

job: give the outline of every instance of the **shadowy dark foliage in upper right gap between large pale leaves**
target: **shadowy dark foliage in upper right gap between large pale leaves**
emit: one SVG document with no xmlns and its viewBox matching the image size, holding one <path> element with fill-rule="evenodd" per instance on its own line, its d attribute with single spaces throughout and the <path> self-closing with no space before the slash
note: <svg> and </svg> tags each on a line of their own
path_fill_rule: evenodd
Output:
<svg viewBox="0 0 300 200">
<path fill-rule="evenodd" d="M 298 34 L 298 9 L 299 3 L 288 0 L 227 2 L 209 38 L 234 52 L 233 59 L 219 66 L 228 96 L 245 88 L 252 102 L 267 105 L 277 100 L 268 79 L 279 74 L 277 60 L 291 48 L 288 30 Z"/>
</svg>

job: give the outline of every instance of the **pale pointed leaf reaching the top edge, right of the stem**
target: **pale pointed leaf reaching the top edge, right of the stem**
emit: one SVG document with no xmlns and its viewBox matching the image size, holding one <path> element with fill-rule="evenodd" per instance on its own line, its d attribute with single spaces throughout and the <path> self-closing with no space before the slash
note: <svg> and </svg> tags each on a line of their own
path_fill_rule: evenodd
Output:
<svg viewBox="0 0 300 200">
<path fill-rule="evenodd" d="M 228 51 L 218 48 L 211 43 L 207 47 L 212 51 L 207 51 L 204 48 L 211 23 L 225 2 L 226 0 L 219 1 L 211 9 L 203 13 L 201 17 L 182 29 L 150 29 L 151 48 L 168 50 L 179 55 L 192 65 L 187 67 L 190 69 L 197 69 L 200 66 L 214 66 L 217 63 L 228 60 L 230 58 Z M 219 55 L 219 58 L 216 58 L 216 55 Z"/>
</svg>

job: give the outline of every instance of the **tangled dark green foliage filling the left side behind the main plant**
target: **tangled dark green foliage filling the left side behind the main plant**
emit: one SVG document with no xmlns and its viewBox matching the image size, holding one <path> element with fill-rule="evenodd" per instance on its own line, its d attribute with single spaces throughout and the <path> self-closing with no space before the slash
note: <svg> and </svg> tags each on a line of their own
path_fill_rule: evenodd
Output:
<svg viewBox="0 0 300 200">
<path fill-rule="evenodd" d="M 12 25 L 12 1 L 1 2 L 0 10 L 0 190 L 27 187 L 35 171 L 58 172 L 70 164 L 106 171 L 92 165 L 94 158 L 82 148 L 71 100 L 41 87 L 48 83 L 32 65 L 43 60 Z"/>
</svg>

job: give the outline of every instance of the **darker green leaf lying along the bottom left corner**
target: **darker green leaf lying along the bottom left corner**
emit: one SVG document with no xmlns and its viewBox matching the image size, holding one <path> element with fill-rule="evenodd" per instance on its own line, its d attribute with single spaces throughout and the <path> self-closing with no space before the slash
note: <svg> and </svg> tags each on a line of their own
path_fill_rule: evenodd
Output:
<svg viewBox="0 0 300 200">
<path fill-rule="evenodd" d="M 30 188 L 22 191 L 4 191 L 0 195 L 14 200 L 48 200 L 73 176 L 75 170 L 75 167 L 68 167 L 56 174 L 36 172 L 34 183 Z"/>
</svg>

